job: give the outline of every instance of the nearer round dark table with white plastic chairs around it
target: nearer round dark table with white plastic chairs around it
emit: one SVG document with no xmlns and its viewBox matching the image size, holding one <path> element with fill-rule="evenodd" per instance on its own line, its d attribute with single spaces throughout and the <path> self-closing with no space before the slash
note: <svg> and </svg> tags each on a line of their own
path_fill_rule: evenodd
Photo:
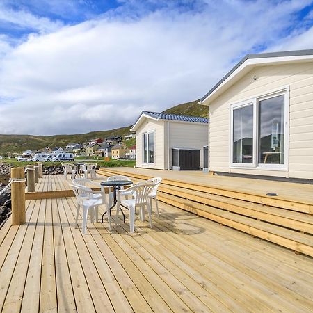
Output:
<svg viewBox="0 0 313 313">
<path fill-rule="evenodd" d="M 90 176 L 91 179 L 88 177 L 74 178 L 70 184 L 77 198 L 75 226 L 78 225 L 79 211 L 83 209 L 83 234 L 86 234 L 88 214 L 90 214 L 92 223 L 98 222 L 99 206 L 104 206 L 106 209 L 102 214 L 102 223 L 106 216 L 109 230 L 111 230 L 111 211 L 113 208 L 116 208 L 115 225 L 118 223 L 120 212 L 125 223 L 123 209 L 127 209 L 129 211 L 130 232 L 134 232 L 135 214 L 138 207 L 141 220 L 145 220 L 145 209 L 147 209 L 150 227 L 152 227 L 152 200 L 156 203 L 157 214 L 159 215 L 157 190 L 162 181 L 161 177 L 134 184 L 129 177 L 123 175 L 114 175 L 106 180 L 97 178 L 95 174 L 90 174 Z M 74 177 L 72 173 L 71 177 Z M 90 188 L 92 185 L 101 187 L 101 191 L 93 191 Z M 106 195 L 109 196 L 109 199 Z"/>
</svg>

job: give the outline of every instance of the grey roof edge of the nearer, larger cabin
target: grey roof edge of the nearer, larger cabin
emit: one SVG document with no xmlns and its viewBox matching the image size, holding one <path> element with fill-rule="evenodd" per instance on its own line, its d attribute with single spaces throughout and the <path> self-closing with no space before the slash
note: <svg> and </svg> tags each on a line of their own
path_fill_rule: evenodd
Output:
<svg viewBox="0 0 313 313">
<path fill-rule="evenodd" d="M 313 55 L 313 49 L 308 49 L 308 50 L 295 50 L 295 51 L 280 51 L 280 52 L 269 52 L 269 53 L 264 53 L 264 54 L 247 54 L 244 58 L 239 61 L 234 67 L 232 67 L 232 70 L 228 72 L 223 79 L 220 79 L 218 83 L 216 83 L 215 86 L 213 86 L 208 93 L 206 93 L 202 99 L 200 99 L 200 102 L 204 101 L 211 93 L 220 86 L 223 81 L 225 81 L 230 75 L 245 61 L 247 61 L 249 58 L 275 58 L 275 57 L 280 57 L 280 56 L 310 56 Z"/>
</svg>

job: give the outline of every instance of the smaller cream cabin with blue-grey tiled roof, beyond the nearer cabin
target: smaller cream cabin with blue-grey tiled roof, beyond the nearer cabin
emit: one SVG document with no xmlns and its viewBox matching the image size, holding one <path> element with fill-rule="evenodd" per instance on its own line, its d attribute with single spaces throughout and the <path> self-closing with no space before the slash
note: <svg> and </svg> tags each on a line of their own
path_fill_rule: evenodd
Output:
<svg viewBox="0 0 313 313">
<path fill-rule="evenodd" d="M 143 111 L 131 127 L 136 131 L 136 166 L 160 170 L 203 168 L 207 128 L 207 118 Z"/>
</svg>

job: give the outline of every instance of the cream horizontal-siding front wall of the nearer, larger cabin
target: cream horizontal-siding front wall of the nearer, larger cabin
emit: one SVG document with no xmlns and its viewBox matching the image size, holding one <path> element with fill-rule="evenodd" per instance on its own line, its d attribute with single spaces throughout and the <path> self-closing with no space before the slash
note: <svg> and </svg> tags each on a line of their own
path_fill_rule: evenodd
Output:
<svg viewBox="0 0 313 313">
<path fill-rule="evenodd" d="M 257 80 L 253 80 L 253 77 Z M 230 168 L 230 105 L 289 86 L 289 170 Z M 209 105 L 209 169 L 313 179 L 313 63 L 255 67 Z"/>
</svg>

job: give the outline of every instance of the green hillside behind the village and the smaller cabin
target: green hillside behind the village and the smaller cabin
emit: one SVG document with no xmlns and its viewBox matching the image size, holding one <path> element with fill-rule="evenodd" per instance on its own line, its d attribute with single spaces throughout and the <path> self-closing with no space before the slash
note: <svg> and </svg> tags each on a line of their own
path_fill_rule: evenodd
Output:
<svg viewBox="0 0 313 313">
<path fill-rule="evenodd" d="M 198 104 L 198 100 L 178 104 L 164 113 L 182 114 L 207 117 L 207 106 Z M 67 143 L 85 143 L 92 138 L 105 138 L 109 136 L 125 136 L 129 134 L 131 126 L 111 129 L 107 131 L 92 131 L 86 134 L 33 136 L 33 135 L 0 135 L 0 155 L 23 152 L 24 150 L 40 150 L 45 147 L 65 147 Z"/>
</svg>

